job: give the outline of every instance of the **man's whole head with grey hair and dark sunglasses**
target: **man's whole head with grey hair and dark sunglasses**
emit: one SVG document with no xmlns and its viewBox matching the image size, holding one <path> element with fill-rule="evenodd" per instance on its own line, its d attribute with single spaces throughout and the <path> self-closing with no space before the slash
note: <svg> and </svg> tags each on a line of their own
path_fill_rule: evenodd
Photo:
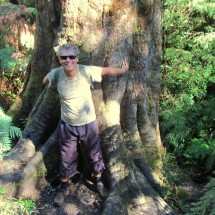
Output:
<svg viewBox="0 0 215 215">
<path fill-rule="evenodd" d="M 79 50 L 71 44 L 63 44 L 58 48 L 57 56 L 65 72 L 76 70 Z"/>
</svg>

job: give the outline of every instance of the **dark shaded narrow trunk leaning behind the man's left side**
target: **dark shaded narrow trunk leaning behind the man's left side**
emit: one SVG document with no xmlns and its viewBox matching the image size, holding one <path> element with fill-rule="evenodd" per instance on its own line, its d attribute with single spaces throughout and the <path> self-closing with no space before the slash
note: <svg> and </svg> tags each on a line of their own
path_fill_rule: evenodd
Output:
<svg viewBox="0 0 215 215">
<path fill-rule="evenodd" d="M 25 86 L 24 92 L 16 98 L 8 114 L 13 116 L 16 124 L 22 125 L 21 120 L 27 119 L 36 99 L 43 88 L 42 79 L 49 72 L 54 55 L 53 42 L 54 30 L 50 22 L 50 10 L 47 8 L 46 1 L 37 1 L 36 8 L 38 11 L 35 31 L 34 50 L 31 55 L 30 67 L 28 73 L 30 77 Z"/>
</svg>

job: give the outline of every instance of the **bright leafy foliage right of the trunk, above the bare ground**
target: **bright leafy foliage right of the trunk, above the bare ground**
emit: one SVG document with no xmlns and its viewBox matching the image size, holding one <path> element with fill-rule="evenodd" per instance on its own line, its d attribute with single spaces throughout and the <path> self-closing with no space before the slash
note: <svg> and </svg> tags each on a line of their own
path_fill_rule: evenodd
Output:
<svg viewBox="0 0 215 215">
<path fill-rule="evenodd" d="M 214 12 L 209 0 L 164 0 L 162 140 L 178 158 L 208 171 L 215 148 Z"/>
</svg>

